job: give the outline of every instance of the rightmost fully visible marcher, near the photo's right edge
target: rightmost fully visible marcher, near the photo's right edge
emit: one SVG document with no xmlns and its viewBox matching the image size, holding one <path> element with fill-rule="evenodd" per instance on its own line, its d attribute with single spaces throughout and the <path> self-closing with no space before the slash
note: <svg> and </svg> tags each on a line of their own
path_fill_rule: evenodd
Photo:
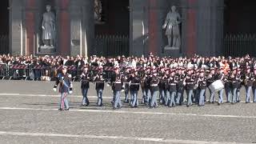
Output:
<svg viewBox="0 0 256 144">
<path fill-rule="evenodd" d="M 244 76 L 244 85 L 246 86 L 246 103 L 250 102 L 250 91 L 254 85 L 254 74 L 250 71 L 250 66 L 246 67 Z"/>
</svg>

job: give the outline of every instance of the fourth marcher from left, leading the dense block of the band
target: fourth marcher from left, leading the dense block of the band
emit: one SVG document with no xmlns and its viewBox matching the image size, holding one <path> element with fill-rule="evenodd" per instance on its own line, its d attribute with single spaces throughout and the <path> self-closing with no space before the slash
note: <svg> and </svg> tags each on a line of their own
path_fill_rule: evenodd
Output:
<svg viewBox="0 0 256 144">
<path fill-rule="evenodd" d="M 119 67 L 116 66 L 114 68 L 114 74 L 112 75 L 112 78 L 110 80 L 113 94 L 114 94 L 114 107 L 113 109 L 121 109 L 122 108 L 122 102 L 121 102 L 121 90 L 122 90 L 122 84 L 124 82 L 124 77 L 120 73 Z"/>
</svg>

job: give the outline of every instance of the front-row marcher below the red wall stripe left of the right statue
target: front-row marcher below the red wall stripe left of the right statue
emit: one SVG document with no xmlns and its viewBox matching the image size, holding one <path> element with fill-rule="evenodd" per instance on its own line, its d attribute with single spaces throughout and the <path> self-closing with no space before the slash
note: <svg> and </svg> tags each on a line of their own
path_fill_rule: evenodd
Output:
<svg viewBox="0 0 256 144">
<path fill-rule="evenodd" d="M 152 70 L 153 76 L 150 80 L 150 90 L 152 94 L 152 98 L 150 100 L 150 108 L 155 108 L 158 107 L 158 101 L 157 101 L 157 96 L 159 95 L 159 78 L 158 78 L 158 73 L 157 70 Z"/>
</svg>

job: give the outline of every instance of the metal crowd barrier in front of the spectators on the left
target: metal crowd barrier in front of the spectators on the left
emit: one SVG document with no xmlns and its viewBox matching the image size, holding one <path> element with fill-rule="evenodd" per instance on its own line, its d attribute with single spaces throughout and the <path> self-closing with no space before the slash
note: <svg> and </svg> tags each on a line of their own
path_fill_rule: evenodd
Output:
<svg viewBox="0 0 256 144">
<path fill-rule="evenodd" d="M 3 79 L 24 79 L 24 80 L 55 80 L 62 66 L 44 66 L 44 65 L 0 65 L 0 78 Z M 67 66 L 67 73 L 72 75 L 73 81 L 80 81 L 83 67 Z M 125 67 L 121 67 L 123 72 Z M 89 72 L 94 75 L 98 71 L 98 66 L 90 66 Z M 103 67 L 103 78 L 110 80 L 113 74 L 114 66 Z"/>
</svg>

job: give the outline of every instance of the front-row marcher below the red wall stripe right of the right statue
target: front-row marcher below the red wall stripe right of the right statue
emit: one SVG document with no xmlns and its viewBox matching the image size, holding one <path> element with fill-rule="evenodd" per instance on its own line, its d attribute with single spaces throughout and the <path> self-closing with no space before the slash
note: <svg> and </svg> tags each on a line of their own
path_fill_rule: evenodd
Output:
<svg viewBox="0 0 256 144">
<path fill-rule="evenodd" d="M 194 85 L 195 85 L 195 77 L 192 74 L 192 70 L 188 70 L 186 74 L 185 81 L 186 83 L 186 95 L 187 95 L 187 104 L 186 106 L 192 106 L 192 95 L 193 95 L 193 90 L 194 90 Z"/>
</svg>

